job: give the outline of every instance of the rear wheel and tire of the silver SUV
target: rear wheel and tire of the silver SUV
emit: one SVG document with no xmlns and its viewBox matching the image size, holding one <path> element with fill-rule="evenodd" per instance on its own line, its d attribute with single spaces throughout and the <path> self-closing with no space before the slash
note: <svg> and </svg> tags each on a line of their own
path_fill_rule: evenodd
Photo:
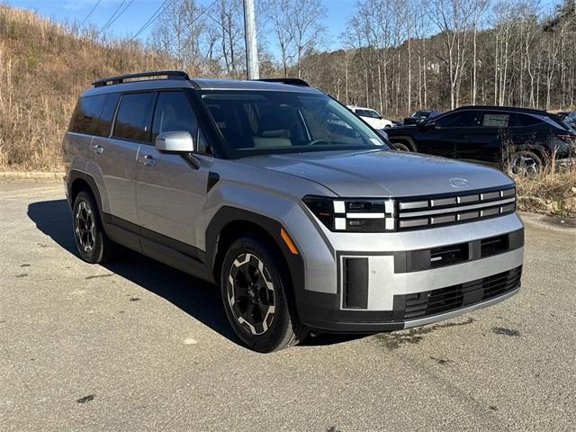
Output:
<svg viewBox="0 0 576 432">
<path fill-rule="evenodd" d="M 85 262 L 103 264 L 112 259 L 118 246 L 106 236 L 91 193 L 82 191 L 76 195 L 72 228 L 76 249 Z"/>
</svg>

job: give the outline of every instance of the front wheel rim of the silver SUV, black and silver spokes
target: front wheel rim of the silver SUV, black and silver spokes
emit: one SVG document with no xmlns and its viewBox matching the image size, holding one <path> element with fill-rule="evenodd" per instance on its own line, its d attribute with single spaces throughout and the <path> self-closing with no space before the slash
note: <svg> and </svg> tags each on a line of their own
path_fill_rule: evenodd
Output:
<svg viewBox="0 0 576 432">
<path fill-rule="evenodd" d="M 275 316 L 275 289 L 266 266 L 254 254 L 238 256 L 230 267 L 228 302 L 234 318 L 251 335 L 270 328 Z"/>
</svg>

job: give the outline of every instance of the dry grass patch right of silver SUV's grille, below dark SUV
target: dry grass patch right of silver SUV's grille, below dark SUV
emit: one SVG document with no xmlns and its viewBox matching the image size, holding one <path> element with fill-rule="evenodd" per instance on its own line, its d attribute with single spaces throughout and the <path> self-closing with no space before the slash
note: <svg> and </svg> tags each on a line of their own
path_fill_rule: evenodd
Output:
<svg viewBox="0 0 576 432">
<path fill-rule="evenodd" d="M 576 169 L 517 178 L 518 210 L 576 218 Z"/>
</svg>

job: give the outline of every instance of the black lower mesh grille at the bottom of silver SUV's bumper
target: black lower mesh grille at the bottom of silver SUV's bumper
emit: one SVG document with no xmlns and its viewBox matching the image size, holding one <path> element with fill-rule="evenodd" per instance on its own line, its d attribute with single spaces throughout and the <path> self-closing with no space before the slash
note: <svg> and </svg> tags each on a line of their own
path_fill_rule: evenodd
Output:
<svg viewBox="0 0 576 432">
<path fill-rule="evenodd" d="M 407 294 L 404 296 L 404 320 L 437 315 L 454 311 L 474 303 L 490 300 L 504 293 L 509 293 L 520 284 L 522 266 L 467 282 L 424 293 Z"/>
</svg>

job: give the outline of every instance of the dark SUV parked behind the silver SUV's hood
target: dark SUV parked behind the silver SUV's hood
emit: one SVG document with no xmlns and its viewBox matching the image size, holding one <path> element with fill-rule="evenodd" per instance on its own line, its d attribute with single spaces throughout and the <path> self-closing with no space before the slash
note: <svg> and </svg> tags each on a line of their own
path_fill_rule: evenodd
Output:
<svg viewBox="0 0 576 432">
<path fill-rule="evenodd" d="M 556 114 L 496 106 L 463 106 L 387 132 L 399 149 L 498 166 L 511 175 L 533 175 L 553 155 L 566 162 L 576 143 L 576 132 Z"/>
</svg>

